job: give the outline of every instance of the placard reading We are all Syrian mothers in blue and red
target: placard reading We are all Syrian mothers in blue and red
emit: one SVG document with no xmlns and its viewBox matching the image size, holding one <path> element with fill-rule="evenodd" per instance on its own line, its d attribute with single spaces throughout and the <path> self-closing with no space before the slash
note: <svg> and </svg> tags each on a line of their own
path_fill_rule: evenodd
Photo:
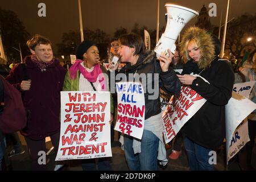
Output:
<svg viewBox="0 0 256 182">
<path fill-rule="evenodd" d="M 117 90 L 117 122 L 115 130 L 141 139 L 144 129 L 145 99 L 139 82 L 119 82 Z"/>
</svg>

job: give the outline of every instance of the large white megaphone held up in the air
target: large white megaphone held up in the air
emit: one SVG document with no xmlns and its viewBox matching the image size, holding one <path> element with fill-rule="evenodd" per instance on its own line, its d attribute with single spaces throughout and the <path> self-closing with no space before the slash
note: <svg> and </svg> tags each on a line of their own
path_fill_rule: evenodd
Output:
<svg viewBox="0 0 256 182">
<path fill-rule="evenodd" d="M 154 49 L 158 59 L 160 55 L 168 56 L 167 49 L 171 49 L 172 53 L 175 52 L 175 42 L 182 28 L 189 22 L 189 20 L 196 15 L 199 15 L 199 13 L 188 9 L 187 7 L 171 5 L 170 3 L 166 3 L 165 6 L 167 9 L 166 30 L 162 34 Z"/>
</svg>

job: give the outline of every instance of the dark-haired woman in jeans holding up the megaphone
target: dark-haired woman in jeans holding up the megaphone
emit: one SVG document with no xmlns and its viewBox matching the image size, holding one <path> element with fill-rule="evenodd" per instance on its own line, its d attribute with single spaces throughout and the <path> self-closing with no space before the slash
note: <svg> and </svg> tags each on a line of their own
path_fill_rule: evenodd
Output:
<svg viewBox="0 0 256 182">
<path fill-rule="evenodd" d="M 160 56 L 161 61 L 157 61 L 155 52 L 147 51 L 142 38 L 136 34 L 122 35 L 118 42 L 121 63 L 127 63 L 119 73 L 125 73 L 127 80 L 133 78 L 129 80 L 131 82 L 139 80 L 141 75 L 146 75 L 147 78 L 150 75 L 154 76 L 150 82 L 142 81 L 145 103 L 142 139 L 124 135 L 126 162 L 132 171 L 158 170 L 158 160 L 163 166 L 168 162 L 163 143 L 159 87 L 169 94 L 177 95 L 180 92 L 180 81 L 174 69 L 170 67 L 172 54 L 169 50 L 170 57 Z M 156 98 L 151 98 L 152 93 L 146 89 L 148 85 L 154 85 Z M 156 88 L 156 85 L 159 87 Z"/>
</svg>

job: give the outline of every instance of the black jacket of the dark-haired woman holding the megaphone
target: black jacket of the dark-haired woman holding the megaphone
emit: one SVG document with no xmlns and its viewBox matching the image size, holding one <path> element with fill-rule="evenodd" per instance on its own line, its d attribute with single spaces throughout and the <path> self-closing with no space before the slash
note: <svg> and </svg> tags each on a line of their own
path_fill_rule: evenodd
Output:
<svg viewBox="0 0 256 182">
<path fill-rule="evenodd" d="M 174 72 L 174 69 L 171 67 L 167 72 L 162 72 L 160 68 L 159 61 L 156 60 L 155 53 L 153 51 L 148 51 L 145 55 L 140 55 L 137 63 L 132 65 L 127 63 L 125 67 L 123 67 L 119 73 L 125 73 L 128 80 L 129 73 L 159 73 L 159 79 L 155 80 L 156 77 L 152 78 L 152 87 L 154 88 L 154 82 L 159 81 L 159 87 L 165 90 L 168 94 L 175 94 L 176 96 L 180 93 L 180 81 Z M 155 78 L 155 79 L 154 79 Z M 148 83 L 147 83 L 148 84 Z M 144 98 L 145 98 L 145 119 L 152 117 L 153 115 L 159 114 L 161 112 L 161 104 L 160 104 L 160 92 L 158 90 L 158 97 L 155 100 L 149 100 L 148 96 L 153 95 L 153 93 L 148 93 L 147 84 L 145 85 L 142 81 L 142 85 L 144 88 Z M 146 90 L 146 92 L 145 92 Z"/>
</svg>

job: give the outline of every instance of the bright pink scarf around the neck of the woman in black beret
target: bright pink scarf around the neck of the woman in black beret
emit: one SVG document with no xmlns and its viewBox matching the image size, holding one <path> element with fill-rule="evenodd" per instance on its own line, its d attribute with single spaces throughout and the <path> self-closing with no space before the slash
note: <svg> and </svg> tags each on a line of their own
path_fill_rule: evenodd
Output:
<svg viewBox="0 0 256 182">
<path fill-rule="evenodd" d="M 101 91 L 107 91 L 106 90 L 107 81 L 106 81 L 106 78 L 105 78 L 105 76 L 103 75 L 103 73 L 101 71 L 100 64 L 94 65 L 93 71 L 88 72 L 88 71 L 86 71 L 86 69 L 84 67 L 82 67 L 81 63 L 82 63 L 82 60 L 77 59 L 75 61 L 75 63 L 72 65 L 72 67 L 69 68 L 69 73 L 70 73 L 71 79 L 76 79 L 77 71 L 79 70 L 82 73 L 82 75 L 89 82 L 96 82 L 98 80 L 100 82 L 100 85 L 101 85 Z"/>
</svg>

